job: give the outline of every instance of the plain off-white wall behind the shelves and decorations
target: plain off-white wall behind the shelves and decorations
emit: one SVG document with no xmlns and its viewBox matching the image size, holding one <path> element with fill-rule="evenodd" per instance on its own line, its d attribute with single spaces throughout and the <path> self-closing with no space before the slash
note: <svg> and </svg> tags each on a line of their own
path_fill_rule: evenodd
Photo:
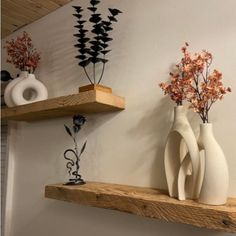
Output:
<svg viewBox="0 0 236 236">
<path fill-rule="evenodd" d="M 76 93 L 86 84 L 74 59 L 75 33 L 71 5 L 12 34 L 27 30 L 42 52 L 37 77 L 50 97 Z M 124 12 L 113 32 L 113 51 L 103 84 L 126 97 L 125 111 L 90 115 L 81 132 L 88 139 L 81 161 L 86 180 L 166 188 L 163 146 L 170 128 L 174 104 L 158 88 L 179 60 L 180 47 L 189 42 L 193 51 L 213 53 L 213 67 L 224 74 L 233 93 L 211 111 L 217 140 L 229 164 L 230 195 L 236 196 L 236 1 L 228 0 L 103 0 L 103 13 L 115 6 Z M 4 40 L 3 40 L 4 42 Z M 5 57 L 3 57 L 5 58 Z M 4 63 L 3 69 L 14 69 Z M 200 122 L 190 114 L 194 129 Z M 11 221 L 6 236 L 64 235 L 218 235 L 214 231 L 165 223 L 104 209 L 44 198 L 44 186 L 66 179 L 63 151 L 72 143 L 63 124 L 70 118 L 12 127 L 10 160 L 13 193 Z M 221 234 L 228 235 L 228 234 Z"/>
</svg>

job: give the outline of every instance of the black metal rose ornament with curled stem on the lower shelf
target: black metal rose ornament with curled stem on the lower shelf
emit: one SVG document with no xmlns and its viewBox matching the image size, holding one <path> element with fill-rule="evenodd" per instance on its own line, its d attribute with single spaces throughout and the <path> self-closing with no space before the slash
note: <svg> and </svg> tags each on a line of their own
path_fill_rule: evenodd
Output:
<svg viewBox="0 0 236 236">
<path fill-rule="evenodd" d="M 64 158 L 67 160 L 66 167 L 68 169 L 69 175 L 72 175 L 73 178 L 69 179 L 69 182 L 66 183 L 66 185 L 82 185 L 85 184 L 85 181 L 82 179 L 81 175 L 79 174 L 79 161 L 82 153 L 84 152 L 86 148 L 87 141 L 84 142 L 82 148 L 79 150 L 78 144 L 77 144 L 77 136 L 81 129 L 81 127 L 86 122 L 86 119 L 84 116 L 77 115 L 73 117 L 73 127 L 70 129 L 67 125 L 65 126 L 66 132 L 70 135 L 70 137 L 73 139 L 74 142 L 74 149 L 67 149 L 64 152 Z M 74 155 L 74 158 L 69 158 L 68 154 Z"/>
</svg>

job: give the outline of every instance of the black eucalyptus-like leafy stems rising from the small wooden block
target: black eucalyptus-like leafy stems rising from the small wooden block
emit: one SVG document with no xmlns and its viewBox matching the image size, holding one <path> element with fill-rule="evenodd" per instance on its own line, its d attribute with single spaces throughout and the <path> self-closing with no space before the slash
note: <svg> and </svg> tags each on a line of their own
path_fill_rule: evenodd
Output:
<svg viewBox="0 0 236 236">
<path fill-rule="evenodd" d="M 74 34 L 78 39 L 78 44 L 75 45 L 78 48 L 79 55 L 76 58 L 79 59 L 79 65 L 84 68 L 85 74 L 91 84 L 99 84 L 104 75 L 105 64 L 109 61 L 106 59 L 106 54 L 111 50 L 108 49 L 109 43 L 112 38 L 109 33 L 113 30 L 112 23 L 117 22 L 116 16 L 122 13 L 118 9 L 108 8 L 110 14 L 107 16 L 108 20 L 103 20 L 101 14 L 97 13 L 97 5 L 100 3 L 99 0 L 91 0 L 90 7 L 88 10 L 91 11 L 91 16 L 89 22 L 92 23 L 92 37 L 87 37 L 87 32 L 89 30 L 84 29 L 85 20 L 82 20 L 83 11 L 81 6 L 73 6 L 75 8 L 76 14 L 73 14 L 78 19 L 79 33 Z M 93 64 L 93 76 L 92 78 L 88 75 L 86 67 L 92 63 Z M 96 79 L 96 64 L 102 63 L 102 72 L 97 81 Z M 93 82 L 92 82 L 93 81 Z"/>
</svg>

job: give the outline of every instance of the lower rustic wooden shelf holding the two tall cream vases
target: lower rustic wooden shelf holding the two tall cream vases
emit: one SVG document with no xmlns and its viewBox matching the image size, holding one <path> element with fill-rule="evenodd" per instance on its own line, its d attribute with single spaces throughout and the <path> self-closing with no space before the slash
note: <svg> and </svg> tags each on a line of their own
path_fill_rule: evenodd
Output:
<svg viewBox="0 0 236 236">
<path fill-rule="evenodd" d="M 223 206 L 210 206 L 193 200 L 179 201 L 170 198 L 166 191 L 154 188 L 96 182 L 80 186 L 47 185 L 45 197 L 197 227 L 236 232 L 236 198 L 229 198 Z"/>
</svg>

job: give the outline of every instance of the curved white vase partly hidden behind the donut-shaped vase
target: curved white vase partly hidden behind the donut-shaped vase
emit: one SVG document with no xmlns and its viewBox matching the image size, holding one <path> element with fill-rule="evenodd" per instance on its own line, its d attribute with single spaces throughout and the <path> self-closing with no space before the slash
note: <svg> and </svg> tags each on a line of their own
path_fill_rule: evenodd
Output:
<svg viewBox="0 0 236 236">
<path fill-rule="evenodd" d="M 11 97 L 11 93 L 12 93 L 12 89 L 13 87 L 19 83 L 20 81 L 22 81 L 24 78 L 26 78 L 28 76 L 28 72 L 27 71 L 21 71 L 20 76 L 15 78 L 14 80 L 12 80 L 6 87 L 5 91 L 4 91 L 4 100 L 5 103 L 8 107 L 14 107 L 16 104 L 13 102 L 12 97 Z"/>
</svg>

